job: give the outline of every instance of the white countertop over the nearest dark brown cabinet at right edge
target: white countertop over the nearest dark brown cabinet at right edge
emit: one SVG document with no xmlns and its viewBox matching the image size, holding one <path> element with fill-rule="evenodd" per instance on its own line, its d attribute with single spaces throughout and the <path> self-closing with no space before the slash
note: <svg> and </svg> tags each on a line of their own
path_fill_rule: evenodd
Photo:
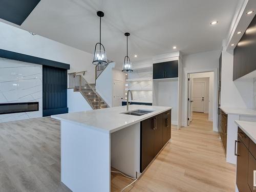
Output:
<svg viewBox="0 0 256 192">
<path fill-rule="evenodd" d="M 243 132 L 256 143 L 256 122 L 235 121 Z"/>
</svg>

